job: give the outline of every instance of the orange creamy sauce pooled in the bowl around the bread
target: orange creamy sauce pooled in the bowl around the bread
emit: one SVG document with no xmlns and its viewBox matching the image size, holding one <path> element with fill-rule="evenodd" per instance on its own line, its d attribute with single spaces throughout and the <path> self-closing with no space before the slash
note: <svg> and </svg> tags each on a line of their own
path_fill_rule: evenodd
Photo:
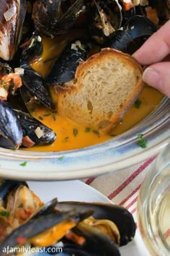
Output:
<svg viewBox="0 0 170 256">
<path fill-rule="evenodd" d="M 70 40 L 73 39 L 73 33 L 68 37 L 62 35 L 58 36 L 55 40 L 51 40 L 49 38 L 43 40 L 43 54 L 38 61 L 32 64 L 32 67 L 42 74 L 43 77 L 48 74 L 50 67 L 52 67 L 53 62 L 57 59 L 58 54 L 60 54 L 62 49 L 68 43 L 66 38 L 69 38 Z M 54 59 L 50 59 L 51 56 L 54 56 Z M 56 106 L 57 95 L 55 95 L 53 88 L 50 88 L 50 92 Z M 158 106 L 158 103 L 160 103 L 162 98 L 163 95 L 160 92 L 146 86 L 139 97 L 139 100 L 141 101 L 140 107 L 136 108 L 135 105 L 133 105 L 125 114 L 120 124 L 117 124 L 117 126 L 112 130 L 111 135 L 99 135 L 96 131 L 89 129 L 89 127 L 81 127 L 79 124 L 75 124 L 66 116 L 58 116 L 56 111 L 50 111 L 48 108 L 38 107 L 32 111 L 32 116 L 35 116 L 36 119 L 42 121 L 42 123 L 53 129 L 57 138 L 52 145 L 35 146 L 30 149 L 27 148 L 26 150 L 72 150 L 96 145 L 106 140 L 110 140 L 111 137 L 125 132 L 148 116 L 148 114 Z"/>
</svg>

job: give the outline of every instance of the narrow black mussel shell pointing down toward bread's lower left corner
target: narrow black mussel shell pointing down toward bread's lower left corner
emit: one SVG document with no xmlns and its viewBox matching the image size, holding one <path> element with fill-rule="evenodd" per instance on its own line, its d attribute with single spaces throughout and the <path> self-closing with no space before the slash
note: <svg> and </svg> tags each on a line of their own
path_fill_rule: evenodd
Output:
<svg viewBox="0 0 170 256">
<path fill-rule="evenodd" d="M 52 98 L 50 97 L 50 92 L 40 74 L 35 72 L 35 70 L 31 67 L 22 67 L 24 68 L 24 74 L 22 75 L 22 86 L 27 88 L 27 90 L 32 96 L 35 97 L 37 101 L 40 101 L 40 103 L 48 108 L 53 108 L 54 106 Z"/>
</svg>

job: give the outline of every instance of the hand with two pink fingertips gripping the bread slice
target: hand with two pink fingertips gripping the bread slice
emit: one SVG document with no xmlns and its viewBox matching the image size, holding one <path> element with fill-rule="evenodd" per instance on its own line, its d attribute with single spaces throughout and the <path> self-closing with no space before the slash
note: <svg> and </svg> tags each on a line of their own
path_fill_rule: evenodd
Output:
<svg viewBox="0 0 170 256">
<path fill-rule="evenodd" d="M 170 20 L 151 35 L 133 57 L 148 67 L 143 81 L 170 98 Z"/>
</svg>

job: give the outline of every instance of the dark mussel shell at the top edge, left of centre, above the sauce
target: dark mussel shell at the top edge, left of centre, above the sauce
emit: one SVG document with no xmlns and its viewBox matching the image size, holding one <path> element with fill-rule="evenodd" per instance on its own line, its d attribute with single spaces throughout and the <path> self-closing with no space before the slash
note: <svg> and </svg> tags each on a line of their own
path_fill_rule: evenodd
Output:
<svg viewBox="0 0 170 256">
<path fill-rule="evenodd" d="M 49 1 L 37 0 L 32 12 L 35 22 L 35 29 L 50 37 L 55 37 L 60 33 L 66 33 L 69 28 L 73 27 L 79 14 L 84 7 L 83 0 L 71 1 Z M 62 8 L 64 6 L 64 8 Z"/>
</svg>

